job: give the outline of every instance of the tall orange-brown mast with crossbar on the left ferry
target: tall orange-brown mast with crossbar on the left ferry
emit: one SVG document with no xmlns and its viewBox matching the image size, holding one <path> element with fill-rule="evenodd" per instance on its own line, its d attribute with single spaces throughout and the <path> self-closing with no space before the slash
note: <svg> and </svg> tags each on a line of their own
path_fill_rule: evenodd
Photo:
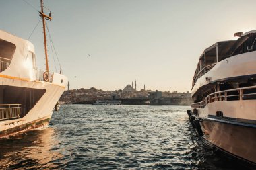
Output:
<svg viewBox="0 0 256 170">
<path fill-rule="evenodd" d="M 40 17 L 42 17 L 42 26 L 44 29 L 44 53 L 45 53 L 46 71 L 48 72 L 49 67 L 48 67 L 48 54 L 47 54 L 47 44 L 46 44 L 45 19 L 51 21 L 52 18 L 51 18 L 51 12 L 50 12 L 49 16 L 44 14 L 44 5 L 43 5 L 42 0 L 40 0 L 40 1 L 41 1 L 41 11 L 39 12 L 40 13 L 39 15 L 40 15 Z"/>
</svg>

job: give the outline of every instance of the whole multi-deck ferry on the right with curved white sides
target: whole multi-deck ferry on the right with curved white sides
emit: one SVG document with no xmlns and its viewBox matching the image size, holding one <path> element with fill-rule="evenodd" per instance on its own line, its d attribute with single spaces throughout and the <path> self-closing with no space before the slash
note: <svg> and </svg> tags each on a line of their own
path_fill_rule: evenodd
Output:
<svg viewBox="0 0 256 170">
<path fill-rule="evenodd" d="M 221 151 L 256 164 L 256 30 L 203 51 L 187 110 L 199 136 Z"/>
</svg>

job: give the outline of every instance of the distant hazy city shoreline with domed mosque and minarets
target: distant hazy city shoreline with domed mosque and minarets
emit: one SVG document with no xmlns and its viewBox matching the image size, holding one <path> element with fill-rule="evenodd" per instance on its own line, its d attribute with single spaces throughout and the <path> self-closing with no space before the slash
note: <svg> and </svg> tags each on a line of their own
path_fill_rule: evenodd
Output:
<svg viewBox="0 0 256 170">
<path fill-rule="evenodd" d="M 140 86 L 137 90 L 133 82 L 126 85 L 123 89 L 115 91 L 104 91 L 91 87 L 90 89 L 68 89 L 65 91 L 59 100 L 60 103 L 74 104 L 92 104 L 95 101 L 121 101 L 127 105 L 190 105 L 192 103 L 191 93 L 177 91 L 152 91 L 146 89 L 146 86 Z"/>
</svg>

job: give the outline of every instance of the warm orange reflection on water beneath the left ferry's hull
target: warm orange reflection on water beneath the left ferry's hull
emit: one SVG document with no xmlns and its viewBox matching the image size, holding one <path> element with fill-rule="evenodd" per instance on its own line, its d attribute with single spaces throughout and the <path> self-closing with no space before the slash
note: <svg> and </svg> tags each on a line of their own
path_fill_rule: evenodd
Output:
<svg viewBox="0 0 256 170">
<path fill-rule="evenodd" d="M 29 130 L 0 140 L 0 167 L 3 169 L 57 168 L 56 159 L 63 155 L 55 151 L 58 144 L 54 128 Z"/>
</svg>

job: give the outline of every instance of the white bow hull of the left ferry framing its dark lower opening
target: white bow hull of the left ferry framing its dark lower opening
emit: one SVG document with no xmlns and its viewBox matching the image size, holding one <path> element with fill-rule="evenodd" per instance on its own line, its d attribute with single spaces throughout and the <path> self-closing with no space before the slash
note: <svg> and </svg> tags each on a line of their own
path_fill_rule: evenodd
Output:
<svg viewBox="0 0 256 170">
<path fill-rule="evenodd" d="M 0 75 L 1 76 L 1 75 Z M 32 89 L 45 89 L 46 92 L 34 107 L 24 116 L 14 120 L 5 120 L 0 122 L 0 137 L 20 132 L 22 130 L 37 128 L 49 124 L 49 120 L 53 114 L 56 103 L 65 91 L 65 86 L 55 83 L 46 83 L 41 81 L 25 81 L 22 79 L 12 79 L 1 77 L 2 85 L 11 85 L 16 87 L 29 87 Z M 67 78 L 63 75 L 56 75 L 55 79 L 59 79 L 66 84 Z"/>
</svg>

